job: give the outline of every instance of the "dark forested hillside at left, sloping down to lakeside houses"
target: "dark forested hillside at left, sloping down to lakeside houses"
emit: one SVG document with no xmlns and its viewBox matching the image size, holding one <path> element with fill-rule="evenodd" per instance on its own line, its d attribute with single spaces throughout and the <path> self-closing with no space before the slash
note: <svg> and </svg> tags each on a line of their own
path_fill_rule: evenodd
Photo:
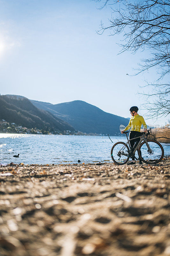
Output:
<svg viewBox="0 0 170 256">
<path fill-rule="evenodd" d="M 22 96 L 0 95 L 0 119 L 10 123 L 48 131 L 74 131 L 74 128 L 53 114 L 36 108 Z"/>
</svg>

